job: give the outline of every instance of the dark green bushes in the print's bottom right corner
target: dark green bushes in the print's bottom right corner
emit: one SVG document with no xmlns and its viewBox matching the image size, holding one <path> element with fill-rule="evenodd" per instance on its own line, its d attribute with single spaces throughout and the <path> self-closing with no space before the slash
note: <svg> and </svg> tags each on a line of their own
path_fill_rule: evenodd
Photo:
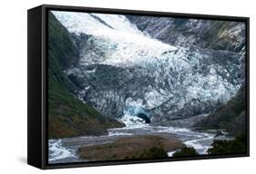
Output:
<svg viewBox="0 0 256 174">
<path fill-rule="evenodd" d="M 246 136 L 241 134 L 235 140 L 214 140 L 209 154 L 241 154 L 246 152 Z"/>
</svg>

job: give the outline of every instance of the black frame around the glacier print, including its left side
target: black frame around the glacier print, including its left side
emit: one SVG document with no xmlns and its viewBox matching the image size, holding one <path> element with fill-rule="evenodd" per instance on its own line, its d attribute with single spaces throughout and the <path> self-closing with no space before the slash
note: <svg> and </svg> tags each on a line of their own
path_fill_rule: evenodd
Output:
<svg viewBox="0 0 256 174">
<path fill-rule="evenodd" d="M 200 155 L 159 160 L 111 160 L 48 164 L 47 137 L 47 12 L 49 10 L 103 14 L 137 14 L 244 22 L 246 25 L 247 151 L 240 155 Z M 209 14 L 179 14 L 64 5 L 40 5 L 27 11 L 27 163 L 39 169 L 107 166 L 179 160 L 207 160 L 250 156 L 250 18 Z"/>
</svg>

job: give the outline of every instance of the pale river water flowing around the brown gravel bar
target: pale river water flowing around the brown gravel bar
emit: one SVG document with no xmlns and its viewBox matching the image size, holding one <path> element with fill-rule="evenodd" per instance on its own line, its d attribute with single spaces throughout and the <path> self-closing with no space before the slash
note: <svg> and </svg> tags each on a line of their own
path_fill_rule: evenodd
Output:
<svg viewBox="0 0 256 174">
<path fill-rule="evenodd" d="M 185 145 L 193 147 L 200 154 L 207 154 L 215 133 L 191 131 L 186 128 L 151 126 L 148 124 L 134 124 L 124 128 L 109 129 L 108 135 L 83 136 L 61 140 L 49 140 L 49 163 L 68 163 L 81 160 L 77 156 L 77 149 L 81 146 L 91 146 L 113 142 L 120 138 L 134 135 L 156 135 L 163 138 L 176 137 Z M 227 139 L 227 137 L 224 137 Z M 169 157 L 175 151 L 169 151 Z"/>
</svg>

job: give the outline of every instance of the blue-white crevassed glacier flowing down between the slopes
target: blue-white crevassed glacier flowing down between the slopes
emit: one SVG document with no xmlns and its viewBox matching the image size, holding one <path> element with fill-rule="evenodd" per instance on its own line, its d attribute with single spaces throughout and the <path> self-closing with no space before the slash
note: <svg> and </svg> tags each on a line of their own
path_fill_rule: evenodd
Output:
<svg viewBox="0 0 256 174">
<path fill-rule="evenodd" d="M 52 12 L 70 33 L 88 36 L 79 67 L 67 70 L 82 82 L 79 98 L 110 116 L 123 112 L 126 124 L 135 121 L 124 111 L 127 106 L 167 119 L 201 114 L 229 101 L 242 85 L 242 53 L 162 43 L 125 15 Z M 90 65 L 94 68 L 87 69 Z"/>
</svg>

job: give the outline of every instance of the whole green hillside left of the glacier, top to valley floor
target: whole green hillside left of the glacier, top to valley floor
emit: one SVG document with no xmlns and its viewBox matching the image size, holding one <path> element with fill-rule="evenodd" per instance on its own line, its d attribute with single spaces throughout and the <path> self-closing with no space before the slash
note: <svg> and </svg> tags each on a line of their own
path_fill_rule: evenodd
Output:
<svg viewBox="0 0 256 174">
<path fill-rule="evenodd" d="M 76 66 L 78 51 L 67 29 L 49 13 L 48 24 L 48 135 L 50 139 L 100 135 L 122 123 L 102 116 L 81 102 L 63 71 Z"/>
</svg>

